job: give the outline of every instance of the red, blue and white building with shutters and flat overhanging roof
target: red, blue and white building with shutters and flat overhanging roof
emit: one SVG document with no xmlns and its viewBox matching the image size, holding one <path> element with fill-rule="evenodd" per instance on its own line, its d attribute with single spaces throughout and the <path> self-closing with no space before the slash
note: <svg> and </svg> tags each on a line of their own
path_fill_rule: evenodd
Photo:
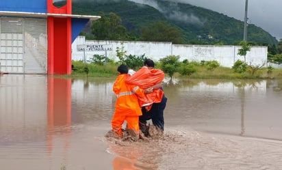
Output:
<svg viewBox="0 0 282 170">
<path fill-rule="evenodd" d="M 71 74 L 71 44 L 90 19 L 71 0 L 0 1 L 0 72 Z"/>
</svg>

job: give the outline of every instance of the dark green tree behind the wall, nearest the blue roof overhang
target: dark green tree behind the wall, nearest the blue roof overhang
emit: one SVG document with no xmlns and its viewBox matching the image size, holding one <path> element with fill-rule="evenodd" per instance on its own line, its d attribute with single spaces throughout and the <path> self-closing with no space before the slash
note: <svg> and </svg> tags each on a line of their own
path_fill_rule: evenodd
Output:
<svg viewBox="0 0 282 170">
<path fill-rule="evenodd" d="M 107 17 L 103 12 L 99 14 L 101 18 L 92 24 L 92 33 L 96 40 L 127 40 L 127 29 L 121 24 L 118 15 L 110 12 Z"/>
</svg>

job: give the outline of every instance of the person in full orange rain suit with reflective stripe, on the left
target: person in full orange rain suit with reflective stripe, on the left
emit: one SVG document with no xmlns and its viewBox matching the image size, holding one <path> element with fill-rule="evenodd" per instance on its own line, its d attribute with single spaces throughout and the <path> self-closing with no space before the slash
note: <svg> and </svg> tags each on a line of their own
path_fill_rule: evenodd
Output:
<svg viewBox="0 0 282 170">
<path fill-rule="evenodd" d="M 129 76 L 128 68 L 125 65 L 118 66 L 120 73 L 114 81 L 113 91 L 116 94 L 116 105 L 112 117 L 112 130 L 118 137 L 123 137 L 123 122 L 127 121 L 127 129 L 133 130 L 136 137 L 139 137 L 139 116 L 142 115 L 139 100 L 146 100 L 144 91 L 149 93 L 151 89 L 141 89 L 137 85 L 128 85 L 125 79 Z M 138 99 L 139 98 L 139 99 Z"/>
</svg>

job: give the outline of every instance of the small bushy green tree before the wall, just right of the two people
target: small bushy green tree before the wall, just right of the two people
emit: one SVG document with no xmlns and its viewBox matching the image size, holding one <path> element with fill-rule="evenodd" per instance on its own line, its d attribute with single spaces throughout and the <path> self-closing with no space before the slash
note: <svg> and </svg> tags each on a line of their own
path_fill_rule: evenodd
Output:
<svg viewBox="0 0 282 170">
<path fill-rule="evenodd" d="M 159 59 L 161 62 L 161 69 L 170 76 L 170 80 L 172 80 L 173 74 L 177 72 L 177 69 L 180 66 L 179 58 L 179 55 L 168 55 Z"/>
</svg>

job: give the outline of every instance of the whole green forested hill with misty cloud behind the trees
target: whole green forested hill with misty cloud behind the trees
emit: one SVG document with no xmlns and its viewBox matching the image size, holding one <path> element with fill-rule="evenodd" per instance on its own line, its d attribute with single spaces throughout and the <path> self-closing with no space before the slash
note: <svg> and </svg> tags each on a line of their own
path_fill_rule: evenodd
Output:
<svg viewBox="0 0 282 170">
<path fill-rule="evenodd" d="M 243 38 L 244 22 L 235 18 L 185 3 L 154 0 L 151 2 L 155 2 L 158 9 L 127 0 L 73 1 L 73 14 L 99 15 L 99 12 L 114 12 L 123 20 L 127 30 L 137 35 L 142 27 L 157 21 L 168 21 L 181 30 L 187 44 L 235 44 Z M 277 40 L 270 33 L 253 24 L 248 25 L 248 41 L 277 44 Z"/>
</svg>

